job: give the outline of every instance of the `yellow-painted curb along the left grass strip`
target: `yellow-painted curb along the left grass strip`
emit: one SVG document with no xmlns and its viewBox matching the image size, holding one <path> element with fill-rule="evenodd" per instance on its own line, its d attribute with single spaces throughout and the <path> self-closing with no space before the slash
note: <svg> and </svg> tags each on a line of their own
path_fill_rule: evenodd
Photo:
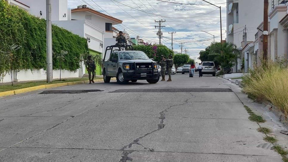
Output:
<svg viewBox="0 0 288 162">
<path fill-rule="evenodd" d="M 116 78 L 111 78 L 111 80 L 116 80 Z M 96 79 L 94 82 L 104 82 L 103 79 Z M 34 87 L 28 87 L 28 88 L 21 88 L 21 89 L 16 89 L 12 91 L 4 91 L 0 92 L 0 97 L 5 97 L 5 96 L 12 96 L 16 94 L 23 94 L 27 92 L 32 92 L 32 91 L 38 91 L 41 89 L 48 89 L 48 88 L 56 88 L 56 87 L 63 87 L 67 85 L 78 85 L 78 84 L 85 84 L 89 83 L 89 80 L 84 80 L 84 81 L 76 81 L 76 82 L 66 82 L 66 83 L 55 83 L 55 84 L 47 84 L 47 85 L 37 85 Z"/>
</svg>

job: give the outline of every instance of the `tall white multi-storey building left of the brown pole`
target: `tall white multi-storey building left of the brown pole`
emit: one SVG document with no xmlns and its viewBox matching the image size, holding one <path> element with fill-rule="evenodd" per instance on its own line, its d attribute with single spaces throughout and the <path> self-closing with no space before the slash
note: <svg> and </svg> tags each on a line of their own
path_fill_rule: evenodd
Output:
<svg viewBox="0 0 288 162">
<path fill-rule="evenodd" d="M 227 0 L 227 42 L 236 44 L 239 51 L 246 44 L 243 44 L 243 30 L 246 29 L 246 42 L 254 41 L 258 25 L 263 21 L 263 0 Z M 246 27 L 246 28 L 245 28 Z M 233 72 L 241 71 L 241 58 L 233 67 Z"/>
</svg>

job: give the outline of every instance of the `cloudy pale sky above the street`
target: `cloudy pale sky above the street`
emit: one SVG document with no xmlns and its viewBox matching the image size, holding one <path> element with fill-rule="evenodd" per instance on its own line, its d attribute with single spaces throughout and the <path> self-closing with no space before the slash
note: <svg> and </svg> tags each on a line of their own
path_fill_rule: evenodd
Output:
<svg viewBox="0 0 288 162">
<path fill-rule="evenodd" d="M 174 4 L 169 2 L 186 3 Z M 112 15 L 123 21 L 121 25 L 114 25 L 119 30 L 126 30 L 131 38 L 140 36 L 145 42 L 159 43 L 154 20 L 165 20 L 162 23 L 162 44 L 171 49 L 171 34 L 173 34 L 174 51 L 181 52 L 179 43 L 187 49 L 191 58 L 199 56 L 201 50 L 215 41 L 220 41 L 220 11 L 219 8 L 202 0 L 68 0 L 68 8 L 77 8 L 86 4 L 87 7 L 101 13 Z M 222 35 L 226 38 L 226 0 L 206 0 L 222 9 Z M 122 3 L 122 4 L 121 4 Z M 127 6 L 125 6 L 127 5 Z M 137 10 L 136 10 L 137 9 Z M 164 16 L 164 17 L 163 17 Z M 209 35 L 205 32 L 212 35 Z"/>
</svg>

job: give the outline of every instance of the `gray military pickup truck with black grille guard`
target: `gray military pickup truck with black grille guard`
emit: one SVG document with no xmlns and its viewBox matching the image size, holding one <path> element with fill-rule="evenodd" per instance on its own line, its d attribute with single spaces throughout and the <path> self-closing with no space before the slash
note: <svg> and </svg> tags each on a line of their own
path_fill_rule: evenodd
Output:
<svg viewBox="0 0 288 162">
<path fill-rule="evenodd" d="M 102 73 L 105 83 L 109 83 L 111 77 L 116 77 L 119 84 L 126 84 L 130 80 L 131 82 L 147 80 L 148 83 L 159 81 L 159 65 L 144 52 L 112 50 L 109 54 L 110 56 L 105 52 L 102 61 Z"/>
</svg>

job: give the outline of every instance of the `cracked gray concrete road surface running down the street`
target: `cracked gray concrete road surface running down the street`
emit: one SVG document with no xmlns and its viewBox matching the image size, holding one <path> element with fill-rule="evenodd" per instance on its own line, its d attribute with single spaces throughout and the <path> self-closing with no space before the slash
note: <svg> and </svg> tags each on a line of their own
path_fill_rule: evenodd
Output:
<svg viewBox="0 0 288 162">
<path fill-rule="evenodd" d="M 0 161 L 281 161 L 259 147 L 267 142 L 231 91 L 235 85 L 197 75 L 0 98 Z"/>
</svg>

